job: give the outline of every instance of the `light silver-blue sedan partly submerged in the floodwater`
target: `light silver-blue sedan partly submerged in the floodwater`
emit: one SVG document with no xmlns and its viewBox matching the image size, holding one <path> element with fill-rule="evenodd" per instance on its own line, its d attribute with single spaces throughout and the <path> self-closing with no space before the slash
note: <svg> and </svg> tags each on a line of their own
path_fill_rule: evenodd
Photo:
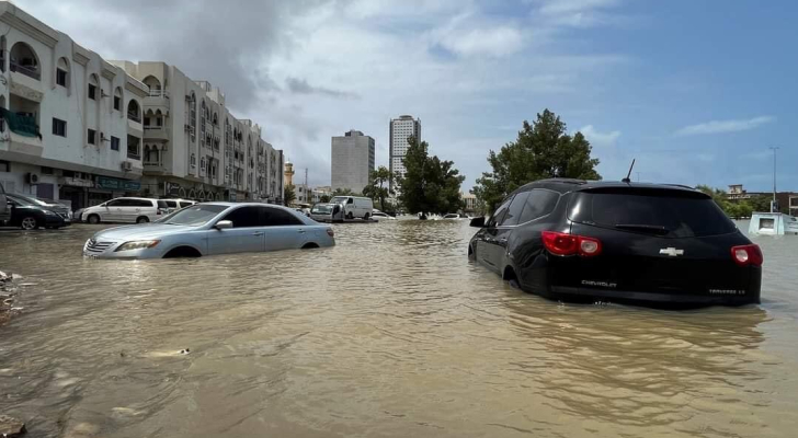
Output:
<svg viewBox="0 0 798 438">
<path fill-rule="evenodd" d="M 100 258 L 171 258 L 333 246 L 334 233 L 295 210 L 259 203 L 206 203 L 155 223 L 94 234 L 83 254 Z"/>
</svg>

